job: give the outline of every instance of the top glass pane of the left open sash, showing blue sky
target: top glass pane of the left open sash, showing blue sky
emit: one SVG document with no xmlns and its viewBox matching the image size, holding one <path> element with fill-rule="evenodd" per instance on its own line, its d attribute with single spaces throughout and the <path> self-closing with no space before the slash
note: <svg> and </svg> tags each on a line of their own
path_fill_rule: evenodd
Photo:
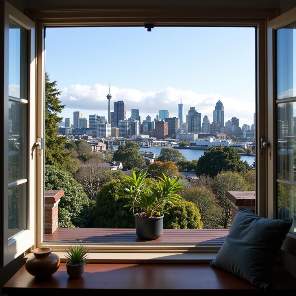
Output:
<svg viewBox="0 0 296 296">
<path fill-rule="evenodd" d="M 9 20 L 8 95 L 27 99 L 28 31 Z"/>
</svg>

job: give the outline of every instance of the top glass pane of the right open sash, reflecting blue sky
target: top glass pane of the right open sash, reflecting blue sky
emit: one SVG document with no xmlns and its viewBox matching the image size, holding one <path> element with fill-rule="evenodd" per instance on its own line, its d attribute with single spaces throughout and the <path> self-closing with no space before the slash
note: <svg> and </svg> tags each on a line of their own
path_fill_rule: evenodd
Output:
<svg viewBox="0 0 296 296">
<path fill-rule="evenodd" d="M 296 22 L 276 31 L 277 98 L 296 96 Z"/>
</svg>

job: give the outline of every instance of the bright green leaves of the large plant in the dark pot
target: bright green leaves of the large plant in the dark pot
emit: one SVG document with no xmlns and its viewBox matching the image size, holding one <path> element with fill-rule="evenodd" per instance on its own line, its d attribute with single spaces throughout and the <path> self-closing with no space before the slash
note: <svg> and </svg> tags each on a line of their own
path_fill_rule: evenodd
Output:
<svg viewBox="0 0 296 296">
<path fill-rule="evenodd" d="M 158 183 L 155 187 L 146 185 L 146 172 L 141 171 L 138 175 L 133 171 L 133 176 L 128 177 L 123 183 L 127 185 L 126 188 L 120 188 L 121 192 L 113 193 L 118 195 L 118 198 L 129 198 L 133 202 L 124 207 L 141 208 L 147 218 L 152 218 L 156 213 L 160 216 L 161 213 L 169 214 L 167 210 L 163 210 L 165 204 L 173 204 L 173 201 L 181 199 L 179 194 L 185 186 L 182 184 L 186 181 L 179 182 L 178 178 L 166 177 L 163 174 L 163 178 L 157 177 Z M 147 190 L 147 189 L 150 190 Z"/>
</svg>

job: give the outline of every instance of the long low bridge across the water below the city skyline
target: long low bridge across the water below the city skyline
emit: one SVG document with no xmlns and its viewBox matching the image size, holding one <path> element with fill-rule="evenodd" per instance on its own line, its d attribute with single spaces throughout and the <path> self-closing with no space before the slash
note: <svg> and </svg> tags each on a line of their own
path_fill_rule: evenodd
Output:
<svg viewBox="0 0 296 296">
<path fill-rule="evenodd" d="M 180 140 L 151 140 L 151 139 L 119 139 L 119 140 L 104 140 L 106 148 L 109 149 L 112 145 L 125 145 L 127 142 L 134 142 L 139 144 L 140 147 L 159 147 L 159 146 L 172 146 L 180 142 Z"/>
</svg>

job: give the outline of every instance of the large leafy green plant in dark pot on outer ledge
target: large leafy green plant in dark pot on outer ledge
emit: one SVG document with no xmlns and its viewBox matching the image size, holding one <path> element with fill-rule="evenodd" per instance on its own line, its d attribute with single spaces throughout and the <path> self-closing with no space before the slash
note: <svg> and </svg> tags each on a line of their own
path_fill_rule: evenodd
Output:
<svg viewBox="0 0 296 296">
<path fill-rule="evenodd" d="M 140 208 L 142 212 L 134 213 L 136 219 L 136 235 L 143 239 L 157 239 L 163 234 L 163 217 L 169 214 L 163 210 L 165 204 L 172 204 L 181 198 L 176 192 L 180 192 L 185 186 L 186 181 L 179 182 L 178 178 L 157 177 L 158 183 L 154 188 L 146 185 L 146 172 L 138 175 L 133 171 L 133 176 L 126 176 L 127 180 L 123 183 L 126 188 L 120 188 L 120 192 L 113 193 L 118 198 L 128 198 L 132 203 L 124 205 L 131 209 Z"/>
</svg>

